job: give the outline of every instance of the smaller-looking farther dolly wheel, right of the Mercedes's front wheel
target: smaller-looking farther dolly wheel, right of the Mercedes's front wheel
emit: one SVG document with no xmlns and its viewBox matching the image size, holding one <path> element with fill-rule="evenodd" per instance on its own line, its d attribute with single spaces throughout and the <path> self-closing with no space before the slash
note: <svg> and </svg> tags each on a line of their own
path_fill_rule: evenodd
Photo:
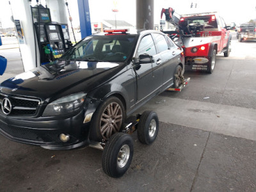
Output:
<svg viewBox="0 0 256 192">
<path fill-rule="evenodd" d="M 141 143 L 150 145 L 157 137 L 159 120 L 156 112 L 144 111 L 138 124 L 138 139 Z"/>
</svg>

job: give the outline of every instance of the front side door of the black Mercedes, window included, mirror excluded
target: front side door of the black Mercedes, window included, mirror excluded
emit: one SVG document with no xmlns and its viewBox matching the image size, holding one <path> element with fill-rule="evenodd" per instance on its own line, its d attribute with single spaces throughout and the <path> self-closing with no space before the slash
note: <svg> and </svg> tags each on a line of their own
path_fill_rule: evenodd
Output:
<svg viewBox="0 0 256 192">
<path fill-rule="evenodd" d="M 163 83 L 163 68 L 159 65 L 161 63 L 161 55 L 157 54 L 152 35 L 147 34 L 141 38 L 136 57 L 141 54 L 152 56 L 154 61 L 140 64 L 134 68 L 138 86 L 137 104 L 156 95 Z"/>
</svg>

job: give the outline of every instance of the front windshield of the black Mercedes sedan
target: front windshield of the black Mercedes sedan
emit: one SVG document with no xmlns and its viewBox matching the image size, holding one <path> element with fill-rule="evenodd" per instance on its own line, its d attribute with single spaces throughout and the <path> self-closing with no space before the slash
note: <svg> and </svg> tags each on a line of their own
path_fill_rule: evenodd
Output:
<svg viewBox="0 0 256 192">
<path fill-rule="evenodd" d="M 135 35 L 88 36 L 68 50 L 61 60 L 124 62 L 129 60 Z"/>
</svg>

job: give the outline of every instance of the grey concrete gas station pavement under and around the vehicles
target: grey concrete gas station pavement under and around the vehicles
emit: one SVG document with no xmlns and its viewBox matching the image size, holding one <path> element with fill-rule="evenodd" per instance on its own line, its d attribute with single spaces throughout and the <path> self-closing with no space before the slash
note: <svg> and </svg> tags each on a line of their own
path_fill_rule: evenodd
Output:
<svg viewBox="0 0 256 192">
<path fill-rule="evenodd" d="M 159 133 L 150 146 L 132 135 L 132 164 L 120 179 L 103 172 L 95 148 L 46 150 L 0 135 L 0 191 L 256 191 L 255 52 L 256 42 L 233 36 L 213 74 L 186 71 L 182 92 L 143 106 L 138 113 L 157 112 Z M 0 81 L 22 72 L 15 44 L 0 54 L 8 59 Z"/>
</svg>

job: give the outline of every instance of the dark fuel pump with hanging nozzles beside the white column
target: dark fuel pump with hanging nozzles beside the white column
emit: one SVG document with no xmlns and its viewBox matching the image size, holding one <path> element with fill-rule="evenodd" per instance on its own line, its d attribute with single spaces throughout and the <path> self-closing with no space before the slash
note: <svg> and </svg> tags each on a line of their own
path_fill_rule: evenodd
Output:
<svg viewBox="0 0 256 192">
<path fill-rule="evenodd" d="M 69 49 L 70 36 L 67 24 L 52 22 L 49 8 L 42 4 L 31 7 L 40 52 L 40 65 L 54 61 Z"/>
</svg>

